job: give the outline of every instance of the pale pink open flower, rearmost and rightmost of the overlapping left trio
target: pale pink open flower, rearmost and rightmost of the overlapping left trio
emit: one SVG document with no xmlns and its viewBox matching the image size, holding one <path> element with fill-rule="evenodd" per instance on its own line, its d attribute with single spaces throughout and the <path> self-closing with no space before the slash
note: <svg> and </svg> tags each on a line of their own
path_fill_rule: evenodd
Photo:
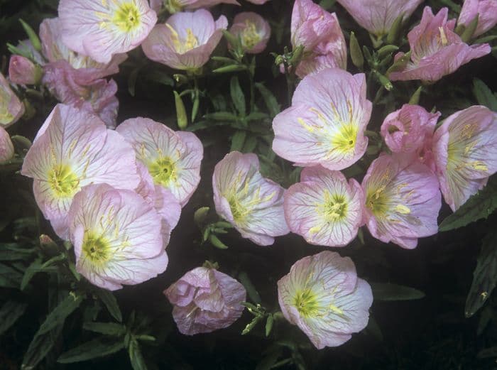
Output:
<svg viewBox="0 0 497 370">
<path fill-rule="evenodd" d="M 185 206 L 200 183 L 204 148 L 197 136 L 141 117 L 127 119 L 116 131 L 131 143 L 155 185 L 170 190 Z"/>
</svg>

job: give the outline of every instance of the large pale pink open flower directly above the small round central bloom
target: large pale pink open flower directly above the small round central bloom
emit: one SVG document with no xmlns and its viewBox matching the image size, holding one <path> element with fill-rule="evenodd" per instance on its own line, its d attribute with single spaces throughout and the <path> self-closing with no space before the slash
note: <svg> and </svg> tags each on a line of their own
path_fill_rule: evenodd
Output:
<svg viewBox="0 0 497 370">
<path fill-rule="evenodd" d="M 364 74 L 328 68 L 306 76 L 275 116 L 273 150 L 297 165 L 342 170 L 364 155 L 371 116 Z"/>
</svg>

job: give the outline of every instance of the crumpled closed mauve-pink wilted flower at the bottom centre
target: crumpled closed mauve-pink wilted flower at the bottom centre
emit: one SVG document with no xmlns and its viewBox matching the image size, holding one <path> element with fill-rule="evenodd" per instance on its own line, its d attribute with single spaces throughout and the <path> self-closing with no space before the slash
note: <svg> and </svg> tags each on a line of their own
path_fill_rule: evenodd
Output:
<svg viewBox="0 0 497 370">
<path fill-rule="evenodd" d="M 244 285 L 214 268 L 197 267 L 164 290 L 174 306 L 182 334 L 194 335 L 229 327 L 239 319 L 246 300 Z"/>
</svg>

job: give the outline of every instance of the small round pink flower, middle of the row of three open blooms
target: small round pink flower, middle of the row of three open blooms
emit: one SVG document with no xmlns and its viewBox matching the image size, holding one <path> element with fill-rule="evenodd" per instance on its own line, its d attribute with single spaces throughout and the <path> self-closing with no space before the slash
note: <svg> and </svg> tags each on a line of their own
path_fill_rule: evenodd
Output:
<svg viewBox="0 0 497 370">
<path fill-rule="evenodd" d="M 361 227 L 364 192 L 339 171 L 321 166 L 302 170 L 300 183 L 285 192 L 285 218 L 292 232 L 307 243 L 345 246 Z"/>
</svg>

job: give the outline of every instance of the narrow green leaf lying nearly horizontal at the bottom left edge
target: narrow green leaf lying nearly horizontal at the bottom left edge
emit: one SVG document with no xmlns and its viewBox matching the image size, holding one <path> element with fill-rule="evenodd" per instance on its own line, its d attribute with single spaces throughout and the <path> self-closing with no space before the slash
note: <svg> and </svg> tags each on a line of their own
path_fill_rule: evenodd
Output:
<svg viewBox="0 0 497 370">
<path fill-rule="evenodd" d="M 101 337 L 83 343 L 78 347 L 70 349 L 58 358 L 61 364 L 71 364 L 72 362 L 87 361 L 97 357 L 108 356 L 124 348 L 122 339 Z"/>
</svg>

